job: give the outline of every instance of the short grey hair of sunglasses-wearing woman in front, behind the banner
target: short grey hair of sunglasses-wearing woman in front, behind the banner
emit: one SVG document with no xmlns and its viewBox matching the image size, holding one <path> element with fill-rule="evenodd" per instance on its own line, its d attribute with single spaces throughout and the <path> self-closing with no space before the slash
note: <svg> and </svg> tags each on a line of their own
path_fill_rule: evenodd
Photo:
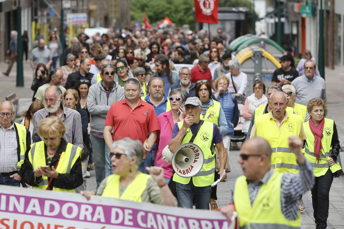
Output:
<svg viewBox="0 0 344 229">
<path fill-rule="evenodd" d="M 132 160 L 135 156 L 137 157 L 134 166 L 136 168 L 139 167 L 139 164 L 143 158 L 143 147 L 142 142 L 139 140 L 132 140 L 129 137 L 114 141 L 111 147 L 111 151 L 113 151 L 116 147 L 120 148 L 125 152 L 128 157 L 128 160 Z"/>
</svg>

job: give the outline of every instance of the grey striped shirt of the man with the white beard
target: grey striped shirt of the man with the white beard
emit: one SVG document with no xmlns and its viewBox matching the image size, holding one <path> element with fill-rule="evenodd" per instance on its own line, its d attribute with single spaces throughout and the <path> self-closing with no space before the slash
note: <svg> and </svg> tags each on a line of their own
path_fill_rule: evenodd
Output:
<svg viewBox="0 0 344 229">
<path fill-rule="evenodd" d="M 83 145 L 83 131 L 82 131 L 82 124 L 81 124 L 81 116 L 80 113 L 76 110 L 61 106 L 63 109 L 63 114 L 61 115 L 61 120 L 67 127 L 66 134 L 63 138 L 67 141 L 76 145 L 78 147 L 84 148 Z M 37 134 L 38 123 L 43 119 L 50 117 L 50 113 L 43 108 L 37 111 L 33 115 L 33 134 L 32 140 L 33 142 L 42 141 L 43 138 Z"/>
</svg>

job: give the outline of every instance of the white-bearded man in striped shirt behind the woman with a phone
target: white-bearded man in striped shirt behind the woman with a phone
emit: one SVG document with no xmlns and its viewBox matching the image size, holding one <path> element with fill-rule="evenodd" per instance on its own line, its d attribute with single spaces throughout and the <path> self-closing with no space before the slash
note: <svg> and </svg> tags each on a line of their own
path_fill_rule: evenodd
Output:
<svg viewBox="0 0 344 229">
<path fill-rule="evenodd" d="M 43 138 L 37 134 L 38 123 L 43 118 L 56 116 L 61 118 L 62 122 L 66 126 L 66 133 L 63 138 L 67 142 L 83 149 L 83 132 L 80 113 L 63 106 L 64 99 L 61 89 L 55 85 L 46 88 L 44 92 L 44 100 L 47 106 L 33 115 L 33 142 L 43 140 Z"/>
</svg>

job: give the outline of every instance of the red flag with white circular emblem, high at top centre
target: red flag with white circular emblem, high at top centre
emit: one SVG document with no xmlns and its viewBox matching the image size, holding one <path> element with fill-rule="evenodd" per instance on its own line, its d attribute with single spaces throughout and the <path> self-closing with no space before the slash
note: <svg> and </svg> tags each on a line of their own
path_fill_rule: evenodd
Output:
<svg viewBox="0 0 344 229">
<path fill-rule="evenodd" d="M 194 0 L 196 22 L 218 24 L 218 0 Z"/>
</svg>

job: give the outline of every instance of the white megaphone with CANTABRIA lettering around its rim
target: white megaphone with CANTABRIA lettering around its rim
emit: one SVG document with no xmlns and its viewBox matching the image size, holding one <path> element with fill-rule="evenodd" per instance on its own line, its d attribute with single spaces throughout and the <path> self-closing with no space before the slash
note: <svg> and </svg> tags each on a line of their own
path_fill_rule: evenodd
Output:
<svg viewBox="0 0 344 229">
<path fill-rule="evenodd" d="M 203 167 L 203 151 L 194 143 L 180 145 L 174 152 L 167 145 L 162 150 L 162 156 L 162 160 L 169 164 L 172 162 L 173 170 L 182 177 L 192 177 Z"/>
</svg>

